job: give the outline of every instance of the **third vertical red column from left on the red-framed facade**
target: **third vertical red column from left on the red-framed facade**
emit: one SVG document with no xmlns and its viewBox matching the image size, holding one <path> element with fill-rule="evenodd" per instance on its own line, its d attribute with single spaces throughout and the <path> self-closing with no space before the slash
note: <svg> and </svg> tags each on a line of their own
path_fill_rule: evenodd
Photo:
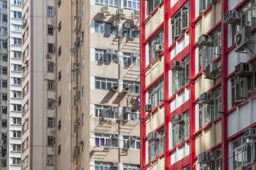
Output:
<svg viewBox="0 0 256 170">
<path fill-rule="evenodd" d="M 190 91 L 190 110 L 189 110 L 189 152 L 190 164 L 189 169 L 196 169 L 195 164 L 195 82 L 191 81 L 195 77 L 195 0 L 189 1 L 189 91 Z"/>
</svg>

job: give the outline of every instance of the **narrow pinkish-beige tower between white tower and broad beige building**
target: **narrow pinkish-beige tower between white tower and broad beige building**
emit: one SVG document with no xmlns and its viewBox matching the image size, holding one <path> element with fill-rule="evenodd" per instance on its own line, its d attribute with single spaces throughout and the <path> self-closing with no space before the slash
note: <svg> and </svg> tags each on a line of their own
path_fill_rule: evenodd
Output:
<svg viewBox="0 0 256 170">
<path fill-rule="evenodd" d="M 55 169 L 55 4 L 22 1 L 22 169 Z"/>
</svg>

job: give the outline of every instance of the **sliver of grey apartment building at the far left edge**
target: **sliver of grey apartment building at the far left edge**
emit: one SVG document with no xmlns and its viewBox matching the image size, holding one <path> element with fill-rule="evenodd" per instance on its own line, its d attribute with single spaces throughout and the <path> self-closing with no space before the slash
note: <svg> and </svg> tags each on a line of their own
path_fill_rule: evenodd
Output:
<svg viewBox="0 0 256 170">
<path fill-rule="evenodd" d="M 8 122 L 8 7 L 7 1 L 0 1 L 0 169 L 7 169 L 8 155 L 8 138 L 7 138 L 7 122 Z"/>
</svg>

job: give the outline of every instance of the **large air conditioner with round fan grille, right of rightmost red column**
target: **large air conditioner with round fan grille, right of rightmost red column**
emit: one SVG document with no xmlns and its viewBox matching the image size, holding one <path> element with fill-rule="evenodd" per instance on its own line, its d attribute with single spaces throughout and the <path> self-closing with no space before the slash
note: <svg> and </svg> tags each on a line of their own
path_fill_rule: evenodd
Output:
<svg viewBox="0 0 256 170">
<path fill-rule="evenodd" d="M 250 41 L 252 33 L 251 26 L 244 26 L 236 34 L 236 52 L 243 52 L 248 46 L 247 43 Z"/>
</svg>

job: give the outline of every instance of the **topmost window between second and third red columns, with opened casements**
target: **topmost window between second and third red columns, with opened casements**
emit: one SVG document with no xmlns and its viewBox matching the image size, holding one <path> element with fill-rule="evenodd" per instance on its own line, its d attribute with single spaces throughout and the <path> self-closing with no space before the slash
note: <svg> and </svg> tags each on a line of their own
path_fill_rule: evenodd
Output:
<svg viewBox="0 0 256 170">
<path fill-rule="evenodd" d="M 189 15 L 188 10 L 189 3 L 186 3 L 180 11 L 178 11 L 172 18 L 172 41 L 175 41 L 186 29 L 188 29 Z"/>
</svg>

